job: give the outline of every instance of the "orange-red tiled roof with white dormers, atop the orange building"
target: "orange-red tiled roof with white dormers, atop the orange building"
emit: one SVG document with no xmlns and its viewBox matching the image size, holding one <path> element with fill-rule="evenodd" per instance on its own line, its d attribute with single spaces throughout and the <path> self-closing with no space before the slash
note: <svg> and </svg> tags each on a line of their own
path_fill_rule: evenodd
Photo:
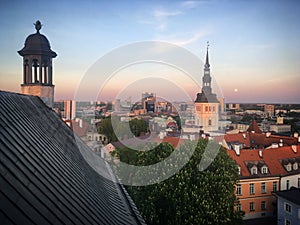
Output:
<svg viewBox="0 0 300 225">
<path fill-rule="evenodd" d="M 300 145 L 296 146 L 297 153 L 292 150 L 291 146 L 285 146 L 281 148 L 270 149 L 253 149 L 253 150 L 240 150 L 240 155 L 237 156 L 234 150 L 227 150 L 228 155 L 235 160 L 235 162 L 241 167 L 241 176 L 250 177 L 250 172 L 246 166 L 248 162 L 264 162 L 269 170 L 268 175 L 286 175 L 289 172 L 282 166 L 281 161 L 283 159 L 300 157 Z M 259 156 L 259 151 L 262 151 L 262 157 Z M 263 175 L 262 175 L 263 176 Z"/>
</svg>

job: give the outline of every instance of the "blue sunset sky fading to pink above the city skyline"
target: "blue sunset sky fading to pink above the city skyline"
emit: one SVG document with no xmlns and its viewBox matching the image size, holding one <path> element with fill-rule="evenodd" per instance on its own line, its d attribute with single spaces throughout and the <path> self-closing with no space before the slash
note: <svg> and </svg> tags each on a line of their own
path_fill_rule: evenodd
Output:
<svg viewBox="0 0 300 225">
<path fill-rule="evenodd" d="M 73 99 L 90 68 L 107 54 L 147 41 L 189 51 L 199 59 L 198 74 L 191 79 L 176 65 L 158 61 L 129 62 L 112 74 L 97 68 L 101 100 L 141 91 L 171 100 L 184 100 L 187 93 L 194 100 L 201 91 L 209 41 L 213 91 L 225 102 L 300 103 L 299 12 L 297 0 L 2 0 L 0 89 L 20 92 L 22 57 L 17 51 L 40 20 L 40 32 L 58 54 L 53 59 L 55 100 Z M 122 57 L 135 53 L 131 50 Z"/>
</svg>

